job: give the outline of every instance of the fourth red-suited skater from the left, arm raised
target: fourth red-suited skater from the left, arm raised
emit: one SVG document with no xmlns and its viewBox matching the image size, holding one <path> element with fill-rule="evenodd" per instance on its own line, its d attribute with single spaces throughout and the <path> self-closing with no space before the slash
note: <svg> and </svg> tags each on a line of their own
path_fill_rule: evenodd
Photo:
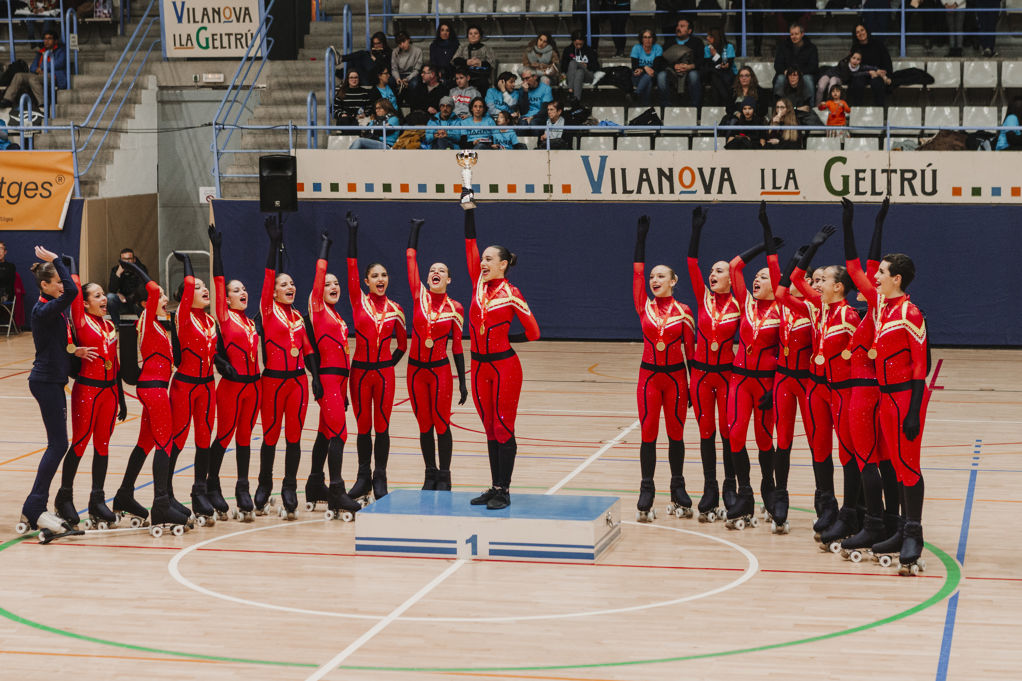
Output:
<svg viewBox="0 0 1022 681">
<path fill-rule="evenodd" d="M 237 279 L 224 276 L 223 235 L 210 225 L 213 244 L 213 280 L 217 288 L 216 312 L 220 340 L 213 361 L 220 372 L 217 384 L 217 438 L 210 446 L 210 473 L 205 489 L 218 512 L 228 506 L 220 486 L 220 466 L 234 439 L 238 482 L 234 487 L 234 517 L 250 521 L 254 506 L 248 487 L 252 428 L 260 405 L 259 332 L 245 315 L 248 291 Z"/>
</svg>

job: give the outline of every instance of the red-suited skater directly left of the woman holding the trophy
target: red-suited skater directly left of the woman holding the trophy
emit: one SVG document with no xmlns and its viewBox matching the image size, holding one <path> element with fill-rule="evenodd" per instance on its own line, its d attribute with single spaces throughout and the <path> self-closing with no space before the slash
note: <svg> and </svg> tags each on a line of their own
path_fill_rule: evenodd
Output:
<svg viewBox="0 0 1022 681">
<path fill-rule="evenodd" d="M 465 310 L 447 294 L 451 271 L 444 263 L 429 267 L 428 287 L 419 278 L 416 260 L 419 247 L 419 229 L 422 220 L 412 220 L 408 235 L 408 285 L 412 289 L 412 349 L 408 356 L 408 395 L 412 411 L 419 423 L 419 446 L 426 465 L 423 490 L 451 490 L 451 456 L 454 443 L 451 437 L 451 402 L 453 382 L 451 365 L 447 359 L 448 339 L 458 370 L 459 405 L 468 399 L 465 383 L 465 355 L 462 350 L 462 326 Z M 433 442 L 433 432 L 436 442 Z M 435 449 L 434 449 L 435 447 Z M 436 452 L 439 453 L 439 467 Z"/>
</svg>

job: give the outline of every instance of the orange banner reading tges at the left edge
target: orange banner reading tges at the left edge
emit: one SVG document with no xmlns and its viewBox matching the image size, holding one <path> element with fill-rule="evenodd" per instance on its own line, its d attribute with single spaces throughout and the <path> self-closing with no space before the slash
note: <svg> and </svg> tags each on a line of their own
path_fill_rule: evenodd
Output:
<svg viewBox="0 0 1022 681">
<path fill-rule="evenodd" d="M 0 151 L 0 230 L 63 229 L 74 192 L 71 151 Z"/>
</svg>

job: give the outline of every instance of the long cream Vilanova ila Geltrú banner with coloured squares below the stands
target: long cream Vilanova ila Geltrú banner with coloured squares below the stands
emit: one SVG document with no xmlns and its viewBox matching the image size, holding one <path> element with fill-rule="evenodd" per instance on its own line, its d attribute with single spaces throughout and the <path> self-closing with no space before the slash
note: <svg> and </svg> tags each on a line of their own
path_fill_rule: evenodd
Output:
<svg viewBox="0 0 1022 681">
<path fill-rule="evenodd" d="M 448 199 L 455 151 L 297 149 L 299 198 Z M 1011 153 L 963 151 L 479 151 L 481 200 L 1022 205 Z M 974 163 L 969 163 L 973 160 Z M 982 163 L 980 163 L 982 161 Z"/>
</svg>

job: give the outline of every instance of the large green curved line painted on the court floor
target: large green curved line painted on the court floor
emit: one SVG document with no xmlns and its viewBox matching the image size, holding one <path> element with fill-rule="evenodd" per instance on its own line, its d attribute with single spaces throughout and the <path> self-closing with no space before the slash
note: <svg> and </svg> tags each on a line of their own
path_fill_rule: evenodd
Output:
<svg viewBox="0 0 1022 681">
<path fill-rule="evenodd" d="M 38 533 L 37 533 L 38 534 Z M 12 539 L 3 544 L 0 544 L 0 551 L 14 546 L 27 539 L 31 539 L 36 535 L 29 535 L 25 537 L 18 537 Z M 734 650 L 719 650 L 716 652 L 704 652 L 695 655 L 679 655 L 673 657 L 653 657 L 649 660 L 630 660 L 624 662 L 604 662 L 604 663 L 589 663 L 584 665 L 544 665 L 535 667 L 373 667 L 373 666 L 349 666 L 344 665 L 338 667 L 338 670 L 350 670 L 350 671 L 372 671 L 372 672 L 447 672 L 447 673 L 482 673 L 482 672 L 542 672 L 542 671 L 556 671 L 556 670 L 577 670 L 577 669 L 598 669 L 605 667 L 631 667 L 637 665 L 659 665 L 664 663 L 677 663 L 677 662 L 688 662 L 692 660 L 705 660 L 709 657 L 724 657 L 729 655 L 744 654 L 747 652 L 762 652 L 764 650 L 773 650 L 776 648 L 791 647 L 794 645 L 802 645 L 804 643 L 816 643 L 818 641 L 825 641 L 832 638 L 838 638 L 840 636 L 847 636 L 849 634 L 855 634 L 861 631 L 867 631 L 869 629 L 875 629 L 877 627 L 882 627 L 883 625 L 890 624 L 892 622 L 897 622 L 898 620 L 903 620 L 917 612 L 921 612 L 928 607 L 931 607 L 940 601 L 944 600 L 956 590 L 958 590 L 959 584 L 962 581 L 962 570 L 958 562 L 945 553 L 940 548 L 934 546 L 933 544 L 925 544 L 926 548 L 930 550 L 934 555 L 936 555 L 940 561 L 944 564 L 946 575 L 944 576 L 944 582 L 940 589 L 924 600 L 921 603 L 913 605 L 912 607 L 901 610 L 900 612 L 895 612 L 889 617 L 882 620 L 877 620 L 876 622 L 870 622 L 857 627 L 851 627 L 849 629 L 842 629 L 841 631 L 831 632 L 828 634 L 820 634 L 818 636 L 809 636 L 807 638 L 796 639 L 794 641 L 783 641 L 780 643 L 768 643 L 765 645 L 757 645 L 748 648 L 736 648 Z M 904 578 L 909 579 L 909 578 Z M 182 652 L 179 650 L 164 650 L 161 648 L 153 648 L 144 645 L 134 645 L 131 643 L 121 643 L 118 641 L 109 641 L 102 638 L 96 638 L 94 636 L 86 636 L 84 634 L 78 634 L 75 632 L 66 631 L 63 629 L 57 629 L 55 627 L 50 627 L 48 625 L 41 624 L 39 622 L 34 622 L 26 618 L 15 615 L 10 610 L 0 606 L 0 616 L 15 622 L 17 624 L 25 625 L 27 627 L 32 627 L 40 631 L 45 631 L 50 634 L 56 634 L 59 636 L 64 636 L 67 638 L 75 638 L 81 641 L 88 641 L 90 643 L 98 643 L 100 645 L 107 645 L 111 647 L 118 647 L 127 650 L 137 650 L 141 652 L 152 652 L 165 655 L 171 655 L 175 657 L 185 657 L 192 660 L 205 660 L 212 662 L 223 662 L 223 663 L 237 663 L 244 665 L 261 665 L 265 667 L 293 667 L 293 668 L 309 668 L 315 669 L 319 665 L 309 664 L 309 663 L 290 663 L 290 662 L 280 662 L 271 660 L 247 660 L 244 657 L 224 657 L 220 655 L 205 655 L 196 654 L 190 652 Z"/>
</svg>

